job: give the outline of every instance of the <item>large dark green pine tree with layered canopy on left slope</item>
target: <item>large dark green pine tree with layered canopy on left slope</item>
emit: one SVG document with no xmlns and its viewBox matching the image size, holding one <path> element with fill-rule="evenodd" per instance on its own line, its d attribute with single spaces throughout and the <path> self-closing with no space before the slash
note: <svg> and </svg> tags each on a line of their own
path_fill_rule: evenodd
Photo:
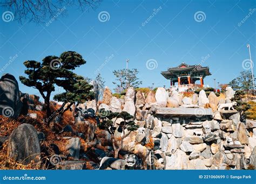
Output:
<svg viewBox="0 0 256 184">
<path fill-rule="evenodd" d="M 86 61 L 82 55 L 73 51 L 63 52 L 59 57 L 46 56 L 42 62 L 33 60 L 24 62 L 27 68 L 24 73 L 28 77 L 19 76 L 19 80 L 26 86 L 36 88 L 44 98 L 46 122 L 48 124 L 52 120 L 51 117 L 54 117 L 50 108 L 50 97 L 56 86 L 62 87 L 66 91 L 55 97 L 65 103 L 79 101 L 79 98 L 84 98 L 83 100 L 91 98 L 89 91 L 92 86 L 82 76 L 72 72 L 72 70 L 85 63 Z M 79 86 L 80 84 L 81 86 Z M 74 95 L 74 93 L 76 94 Z M 62 111 L 62 109 L 59 111 Z"/>
</svg>

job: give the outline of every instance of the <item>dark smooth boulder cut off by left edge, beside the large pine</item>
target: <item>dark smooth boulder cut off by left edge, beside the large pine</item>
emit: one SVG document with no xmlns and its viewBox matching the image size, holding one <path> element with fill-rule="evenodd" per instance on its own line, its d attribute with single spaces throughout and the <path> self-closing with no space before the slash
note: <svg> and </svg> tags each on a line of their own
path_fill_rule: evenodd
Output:
<svg viewBox="0 0 256 184">
<path fill-rule="evenodd" d="M 0 79 L 0 115 L 17 118 L 22 110 L 18 82 L 11 74 Z"/>
</svg>

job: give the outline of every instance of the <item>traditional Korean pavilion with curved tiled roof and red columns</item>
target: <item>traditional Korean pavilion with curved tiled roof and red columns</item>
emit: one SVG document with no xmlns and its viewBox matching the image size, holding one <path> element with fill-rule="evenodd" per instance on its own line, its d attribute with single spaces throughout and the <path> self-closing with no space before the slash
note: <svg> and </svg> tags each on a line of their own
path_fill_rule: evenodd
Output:
<svg viewBox="0 0 256 184">
<path fill-rule="evenodd" d="M 196 88 L 204 87 L 204 78 L 211 75 L 209 67 L 202 67 L 201 65 L 187 65 L 181 63 L 178 67 L 168 68 L 167 71 L 161 74 L 171 82 L 171 88 Z M 200 80 L 200 84 L 196 81 Z M 175 83 L 178 82 L 176 86 Z"/>
</svg>

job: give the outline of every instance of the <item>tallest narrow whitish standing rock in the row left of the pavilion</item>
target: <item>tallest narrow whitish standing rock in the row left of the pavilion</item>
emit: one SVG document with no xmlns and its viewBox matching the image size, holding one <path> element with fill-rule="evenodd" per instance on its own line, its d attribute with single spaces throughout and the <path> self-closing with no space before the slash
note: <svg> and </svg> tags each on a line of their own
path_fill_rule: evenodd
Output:
<svg viewBox="0 0 256 184">
<path fill-rule="evenodd" d="M 134 98 L 135 98 L 135 90 L 133 87 L 129 87 L 126 91 L 124 97 L 124 109 L 123 111 L 128 112 L 130 115 L 134 116 L 136 108 L 134 105 Z"/>
</svg>

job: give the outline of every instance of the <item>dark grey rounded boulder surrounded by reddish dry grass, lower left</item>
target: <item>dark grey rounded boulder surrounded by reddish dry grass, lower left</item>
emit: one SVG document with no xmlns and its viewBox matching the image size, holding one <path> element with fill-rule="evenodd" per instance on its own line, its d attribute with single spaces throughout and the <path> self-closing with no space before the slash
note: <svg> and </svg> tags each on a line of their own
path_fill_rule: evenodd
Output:
<svg viewBox="0 0 256 184">
<path fill-rule="evenodd" d="M 21 124 L 12 131 L 8 143 L 8 155 L 24 165 L 31 161 L 37 163 L 41 157 L 41 148 L 36 129 L 30 124 Z"/>
</svg>

